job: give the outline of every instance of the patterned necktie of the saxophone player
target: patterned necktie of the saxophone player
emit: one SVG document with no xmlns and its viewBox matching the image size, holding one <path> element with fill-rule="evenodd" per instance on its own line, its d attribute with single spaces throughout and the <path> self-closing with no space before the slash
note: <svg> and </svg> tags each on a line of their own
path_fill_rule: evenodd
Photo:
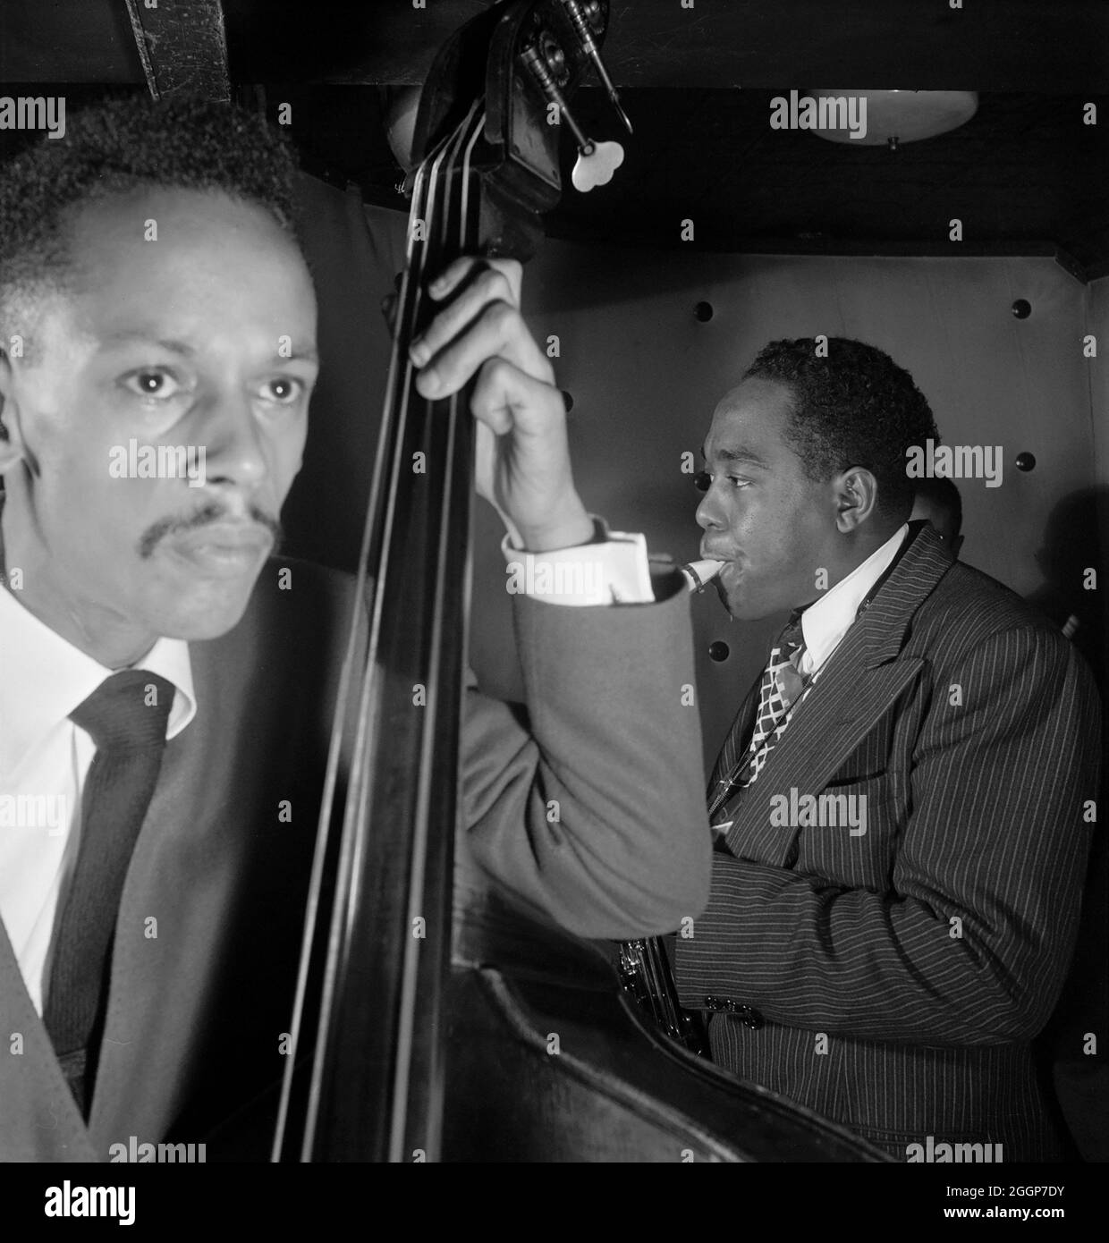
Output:
<svg viewBox="0 0 1109 1243">
<path fill-rule="evenodd" d="M 789 614 L 789 620 L 771 648 L 758 686 L 755 728 L 747 746 L 741 750 L 745 733 L 742 716 L 736 717 L 725 740 L 709 796 L 709 805 L 714 812 L 721 805 L 726 793 L 746 788 L 758 777 L 767 756 L 786 731 L 789 710 L 804 692 L 808 679 L 801 674 L 801 658 L 804 655 L 801 630 L 803 612 L 801 608 Z"/>
</svg>

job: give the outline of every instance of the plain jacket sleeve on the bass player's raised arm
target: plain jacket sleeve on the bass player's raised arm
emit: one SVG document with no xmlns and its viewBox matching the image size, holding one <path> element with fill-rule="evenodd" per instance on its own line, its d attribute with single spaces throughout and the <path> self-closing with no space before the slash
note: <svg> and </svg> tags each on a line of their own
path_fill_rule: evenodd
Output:
<svg viewBox="0 0 1109 1243">
<path fill-rule="evenodd" d="M 525 702 L 467 690 L 469 853 L 587 937 L 669 932 L 709 895 L 689 594 L 566 608 L 515 598 Z"/>
</svg>

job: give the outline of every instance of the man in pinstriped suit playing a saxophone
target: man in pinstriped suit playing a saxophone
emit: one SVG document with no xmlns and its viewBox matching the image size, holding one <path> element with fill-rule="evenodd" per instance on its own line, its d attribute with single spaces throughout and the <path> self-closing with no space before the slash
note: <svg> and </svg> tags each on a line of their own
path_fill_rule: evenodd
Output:
<svg viewBox="0 0 1109 1243">
<path fill-rule="evenodd" d="M 898 1160 L 1058 1160 L 1033 1042 L 1074 950 L 1099 704 L 1056 626 L 909 521 L 937 439 L 909 373 L 845 338 L 770 343 L 712 414 L 701 554 L 732 617 L 792 612 L 711 776 L 676 982 L 717 1064 Z"/>
</svg>

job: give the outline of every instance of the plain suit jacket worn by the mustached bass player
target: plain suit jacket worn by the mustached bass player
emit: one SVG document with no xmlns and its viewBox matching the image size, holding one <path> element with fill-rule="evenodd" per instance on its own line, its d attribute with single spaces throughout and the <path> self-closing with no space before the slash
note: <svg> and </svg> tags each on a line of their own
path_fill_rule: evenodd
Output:
<svg viewBox="0 0 1109 1243">
<path fill-rule="evenodd" d="M 666 931 L 709 888 L 688 593 L 516 599 L 531 715 L 467 695 L 459 868 L 583 936 Z M 127 874 L 87 1127 L 0 927 L 0 1160 L 200 1142 L 280 1078 L 351 602 L 344 576 L 308 564 L 282 590 L 271 562 L 241 623 L 190 645 L 199 711 L 167 746 Z"/>
</svg>

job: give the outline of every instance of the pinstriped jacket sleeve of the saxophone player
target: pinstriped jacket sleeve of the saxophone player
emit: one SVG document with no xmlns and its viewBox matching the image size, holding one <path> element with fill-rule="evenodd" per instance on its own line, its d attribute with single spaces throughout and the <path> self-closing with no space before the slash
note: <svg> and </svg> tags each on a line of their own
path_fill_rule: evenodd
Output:
<svg viewBox="0 0 1109 1243">
<path fill-rule="evenodd" d="M 1070 645 L 1031 626 L 937 681 L 890 891 L 714 854 L 709 907 L 680 946 L 685 1004 L 720 994 L 776 1023 L 932 1044 L 1042 1029 L 1078 922 L 1097 696 Z"/>
</svg>

